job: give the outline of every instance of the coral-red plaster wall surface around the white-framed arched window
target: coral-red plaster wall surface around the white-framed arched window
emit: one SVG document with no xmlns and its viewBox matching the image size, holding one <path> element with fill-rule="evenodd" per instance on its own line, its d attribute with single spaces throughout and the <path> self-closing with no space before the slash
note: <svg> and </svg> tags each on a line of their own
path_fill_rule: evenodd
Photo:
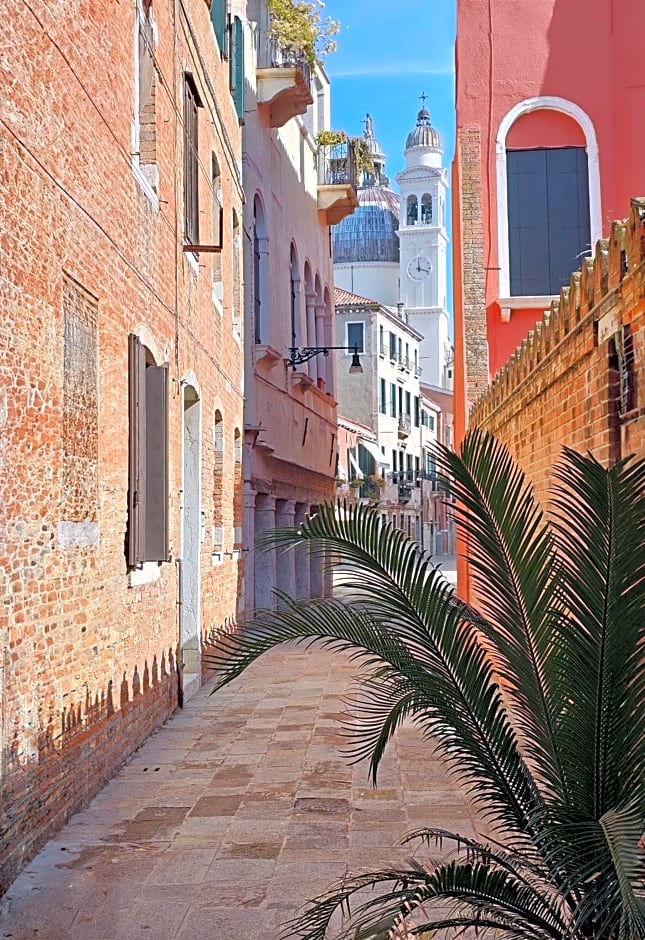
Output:
<svg viewBox="0 0 645 940">
<path fill-rule="evenodd" d="M 606 236 L 612 219 L 628 214 L 630 198 L 645 193 L 643 36 L 644 0 L 457 0 L 458 134 L 473 126 L 481 131 L 491 374 L 542 313 L 515 311 L 511 322 L 503 323 L 493 305 L 499 296 L 495 141 L 500 122 L 521 101 L 538 96 L 565 98 L 582 108 L 598 141 Z M 548 132 L 548 139 L 538 144 L 541 132 Z M 542 111 L 519 119 L 507 144 L 577 145 L 584 144 L 584 135 L 570 118 Z M 458 278 L 458 265 L 455 271 Z M 456 318 L 460 294 L 457 287 Z"/>
</svg>

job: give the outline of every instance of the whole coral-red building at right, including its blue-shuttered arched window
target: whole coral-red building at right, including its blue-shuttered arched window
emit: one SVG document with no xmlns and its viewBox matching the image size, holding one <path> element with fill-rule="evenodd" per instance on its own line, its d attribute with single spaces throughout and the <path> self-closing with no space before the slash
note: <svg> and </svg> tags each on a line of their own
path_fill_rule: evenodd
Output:
<svg viewBox="0 0 645 940">
<path fill-rule="evenodd" d="M 455 424 L 645 192 L 643 0 L 458 0 Z"/>
</svg>

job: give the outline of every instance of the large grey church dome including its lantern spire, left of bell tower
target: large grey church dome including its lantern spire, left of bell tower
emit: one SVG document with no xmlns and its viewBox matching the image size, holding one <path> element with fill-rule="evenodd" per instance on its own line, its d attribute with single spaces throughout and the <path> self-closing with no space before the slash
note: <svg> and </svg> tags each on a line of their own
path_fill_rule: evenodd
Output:
<svg viewBox="0 0 645 940">
<path fill-rule="evenodd" d="M 399 197 L 385 175 L 386 156 L 374 137 L 369 114 L 363 140 L 372 161 L 357 189 L 358 209 L 333 228 L 334 264 L 399 261 Z"/>
</svg>

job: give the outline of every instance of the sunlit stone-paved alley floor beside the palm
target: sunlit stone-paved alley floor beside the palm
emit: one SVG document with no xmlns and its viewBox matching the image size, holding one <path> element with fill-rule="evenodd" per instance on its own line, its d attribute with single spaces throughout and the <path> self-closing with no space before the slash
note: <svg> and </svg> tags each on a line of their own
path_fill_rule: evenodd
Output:
<svg viewBox="0 0 645 940">
<path fill-rule="evenodd" d="M 199 692 L 23 871 L 0 937 L 274 940 L 346 870 L 409 857 L 396 845 L 405 831 L 472 834 L 415 729 L 398 734 L 378 789 L 343 758 L 353 671 L 289 647 Z"/>
</svg>

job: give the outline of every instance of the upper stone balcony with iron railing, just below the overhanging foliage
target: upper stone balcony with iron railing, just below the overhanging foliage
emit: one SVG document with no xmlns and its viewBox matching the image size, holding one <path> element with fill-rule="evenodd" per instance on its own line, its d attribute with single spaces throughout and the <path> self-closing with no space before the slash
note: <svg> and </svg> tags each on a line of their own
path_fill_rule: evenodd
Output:
<svg viewBox="0 0 645 940">
<path fill-rule="evenodd" d="M 267 39 L 257 84 L 258 105 L 268 111 L 271 127 L 282 127 L 313 104 L 311 70 L 304 53 L 281 45 L 276 36 Z"/>
</svg>

